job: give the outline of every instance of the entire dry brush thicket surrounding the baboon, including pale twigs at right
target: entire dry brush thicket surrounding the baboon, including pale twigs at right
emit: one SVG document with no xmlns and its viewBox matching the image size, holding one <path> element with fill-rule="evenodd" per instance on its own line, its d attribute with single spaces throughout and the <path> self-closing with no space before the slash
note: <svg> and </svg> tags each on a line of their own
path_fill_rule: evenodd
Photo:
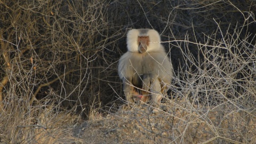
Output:
<svg viewBox="0 0 256 144">
<path fill-rule="evenodd" d="M 129 28 L 159 31 L 175 70 L 159 113 L 168 126 L 139 123 L 146 136 L 256 141 L 255 1 L 0 0 L 0 13 L 1 142 L 52 143 L 81 117 L 115 112 Z"/>
</svg>

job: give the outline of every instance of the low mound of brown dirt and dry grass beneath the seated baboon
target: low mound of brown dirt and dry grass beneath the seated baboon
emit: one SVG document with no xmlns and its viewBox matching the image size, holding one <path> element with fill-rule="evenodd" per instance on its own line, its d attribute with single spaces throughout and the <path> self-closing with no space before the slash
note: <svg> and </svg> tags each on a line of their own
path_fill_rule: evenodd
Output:
<svg viewBox="0 0 256 144">
<path fill-rule="evenodd" d="M 255 110 L 200 107 L 186 100 L 166 104 L 154 113 L 134 105 L 83 122 L 55 143 L 256 143 Z"/>
</svg>

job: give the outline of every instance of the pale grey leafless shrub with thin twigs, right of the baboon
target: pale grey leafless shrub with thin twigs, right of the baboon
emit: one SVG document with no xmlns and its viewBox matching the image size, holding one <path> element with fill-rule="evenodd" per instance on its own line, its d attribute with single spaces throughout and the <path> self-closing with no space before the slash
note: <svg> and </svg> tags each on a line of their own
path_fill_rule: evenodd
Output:
<svg viewBox="0 0 256 144">
<path fill-rule="evenodd" d="M 254 15 L 245 19 L 254 19 Z M 255 34 L 242 34 L 248 26 L 246 21 L 234 30 L 223 30 L 218 23 L 217 26 L 216 33 L 205 36 L 204 42 L 194 43 L 202 61 L 196 63 L 193 54 L 182 52 L 195 68 L 186 65 L 186 70 L 179 73 L 186 78 L 182 82 L 175 79 L 181 91 L 171 88 L 175 96 L 190 103 L 185 102 L 182 107 L 166 103 L 166 107 L 176 107 L 178 111 L 170 113 L 177 116 L 172 121 L 175 142 L 255 142 L 256 45 L 250 40 Z M 217 35 L 222 37 L 218 39 Z M 184 43 L 189 46 L 193 42 L 185 39 Z"/>
</svg>

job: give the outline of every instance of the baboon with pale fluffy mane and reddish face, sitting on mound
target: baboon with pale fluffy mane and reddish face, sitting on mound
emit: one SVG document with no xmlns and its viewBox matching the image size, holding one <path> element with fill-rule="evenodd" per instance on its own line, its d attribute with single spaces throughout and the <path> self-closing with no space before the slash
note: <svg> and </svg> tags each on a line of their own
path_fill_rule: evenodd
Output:
<svg viewBox="0 0 256 144">
<path fill-rule="evenodd" d="M 127 52 L 118 63 L 125 98 L 130 102 L 161 101 L 173 77 L 170 58 L 154 29 L 131 29 L 127 33 Z"/>
</svg>

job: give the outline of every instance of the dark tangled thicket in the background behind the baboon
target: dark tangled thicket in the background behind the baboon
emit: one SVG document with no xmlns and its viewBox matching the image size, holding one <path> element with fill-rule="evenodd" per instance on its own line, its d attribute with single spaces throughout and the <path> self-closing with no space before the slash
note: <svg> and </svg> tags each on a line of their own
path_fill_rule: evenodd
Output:
<svg viewBox="0 0 256 144">
<path fill-rule="evenodd" d="M 4 108 L 17 105 L 20 98 L 24 105 L 54 103 L 84 118 L 95 108 L 118 108 L 124 97 L 117 64 L 126 52 L 125 35 L 131 28 L 159 31 L 180 80 L 189 78 L 180 75 L 181 71 L 199 73 L 206 67 L 203 52 L 212 47 L 197 45 L 206 39 L 209 45 L 223 37 L 238 39 L 236 43 L 243 45 L 246 38 L 247 46 L 231 47 L 241 59 L 255 49 L 255 1 L 2 0 L 0 8 Z M 216 53 L 232 59 L 225 49 Z M 193 57 L 188 60 L 185 54 Z M 207 57 L 214 59 L 211 54 Z M 237 79 L 255 75 L 244 69 L 246 74 L 237 74 Z M 242 91 L 239 86 L 236 89 Z"/>
</svg>

